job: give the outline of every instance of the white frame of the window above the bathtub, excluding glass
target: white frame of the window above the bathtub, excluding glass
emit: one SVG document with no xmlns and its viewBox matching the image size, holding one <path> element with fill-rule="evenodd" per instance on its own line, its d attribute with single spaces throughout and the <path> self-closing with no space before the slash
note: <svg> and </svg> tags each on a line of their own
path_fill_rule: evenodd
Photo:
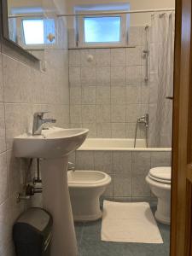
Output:
<svg viewBox="0 0 192 256">
<path fill-rule="evenodd" d="M 84 12 L 86 14 L 86 12 Z M 86 43 L 84 35 L 84 18 L 94 17 L 120 17 L 120 41 L 119 42 L 107 42 L 107 43 Z M 77 26 L 77 45 L 79 48 L 103 48 L 103 47 L 123 47 L 127 43 L 127 16 L 126 15 L 82 15 L 78 18 Z"/>
</svg>

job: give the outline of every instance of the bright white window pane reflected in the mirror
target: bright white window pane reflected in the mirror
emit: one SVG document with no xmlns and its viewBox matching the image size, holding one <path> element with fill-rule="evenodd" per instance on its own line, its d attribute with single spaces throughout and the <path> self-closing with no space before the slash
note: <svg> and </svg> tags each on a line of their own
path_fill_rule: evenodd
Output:
<svg viewBox="0 0 192 256">
<path fill-rule="evenodd" d="M 44 20 L 23 20 L 26 44 L 44 44 Z"/>
</svg>

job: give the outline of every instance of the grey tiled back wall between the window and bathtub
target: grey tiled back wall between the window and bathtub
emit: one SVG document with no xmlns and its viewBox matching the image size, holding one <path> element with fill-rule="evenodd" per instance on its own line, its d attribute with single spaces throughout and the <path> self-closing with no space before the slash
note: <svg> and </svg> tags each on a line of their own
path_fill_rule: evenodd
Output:
<svg viewBox="0 0 192 256">
<path fill-rule="evenodd" d="M 144 44 L 144 28 L 134 26 L 129 48 L 69 50 L 72 127 L 89 128 L 90 137 L 134 137 L 137 118 L 149 106 Z M 144 137 L 139 128 L 138 137 Z"/>
</svg>

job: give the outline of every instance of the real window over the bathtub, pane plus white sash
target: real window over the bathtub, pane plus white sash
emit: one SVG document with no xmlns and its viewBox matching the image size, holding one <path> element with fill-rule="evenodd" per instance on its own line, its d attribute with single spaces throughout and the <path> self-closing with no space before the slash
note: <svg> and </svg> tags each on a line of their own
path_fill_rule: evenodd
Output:
<svg viewBox="0 0 192 256">
<path fill-rule="evenodd" d="M 79 47 L 125 46 L 126 15 L 79 18 Z"/>
</svg>

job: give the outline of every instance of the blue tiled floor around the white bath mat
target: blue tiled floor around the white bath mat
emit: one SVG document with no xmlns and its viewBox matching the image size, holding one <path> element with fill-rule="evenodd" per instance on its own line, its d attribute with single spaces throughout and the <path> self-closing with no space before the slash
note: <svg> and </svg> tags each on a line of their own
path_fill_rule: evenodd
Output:
<svg viewBox="0 0 192 256">
<path fill-rule="evenodd" d="M 155 212 L 154 204 L 151 205 Z M 158 224 L 163 244 L 120 243 L 101 241 L 102 221 L 75 224 L 79 256 L 169 256 L 170 227 Z"/>
</svg>

